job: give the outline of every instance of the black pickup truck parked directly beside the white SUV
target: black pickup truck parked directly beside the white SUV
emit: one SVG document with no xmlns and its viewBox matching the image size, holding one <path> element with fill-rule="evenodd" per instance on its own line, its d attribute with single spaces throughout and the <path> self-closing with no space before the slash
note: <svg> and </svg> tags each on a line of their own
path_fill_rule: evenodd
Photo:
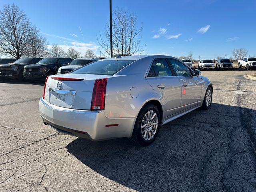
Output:
<svg viewBox="0 0 256 192">
<path fill-rule="evenodd" d="M 28 81 L 43 80 L 48 75 L 55 75 L 58 68 L 68 65 L 72 62 L 71 58 L 44 58 L 40 62 L 33 65 L 26 65 L 24 67 L 24 78 Z"/>
</svg>

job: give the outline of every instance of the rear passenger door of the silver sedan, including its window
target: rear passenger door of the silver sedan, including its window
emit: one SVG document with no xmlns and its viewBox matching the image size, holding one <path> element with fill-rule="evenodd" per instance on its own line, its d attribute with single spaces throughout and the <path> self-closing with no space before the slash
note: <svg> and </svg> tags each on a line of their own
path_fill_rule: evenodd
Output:
<svg viewBox="0 0 256 192">
<path fill-rule="evenodd" d="M 154 59 L 146 80 L 162 100 L 164 118 L 180 111 L 181 84 L 166 58 Z"/>
</svg>

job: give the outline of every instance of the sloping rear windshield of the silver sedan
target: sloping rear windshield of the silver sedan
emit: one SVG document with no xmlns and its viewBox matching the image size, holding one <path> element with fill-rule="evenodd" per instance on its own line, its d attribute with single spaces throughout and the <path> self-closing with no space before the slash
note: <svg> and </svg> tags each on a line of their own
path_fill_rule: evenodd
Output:
<svg viewBox="0 0 256 192">
<path fill-rule="evenodd" d="M 73 73 L 95 74 L 95 75 L 114 75 L 122 68 L 126 67 L 135 60 L 100 60 L 88 64 Z"/>
</svg>

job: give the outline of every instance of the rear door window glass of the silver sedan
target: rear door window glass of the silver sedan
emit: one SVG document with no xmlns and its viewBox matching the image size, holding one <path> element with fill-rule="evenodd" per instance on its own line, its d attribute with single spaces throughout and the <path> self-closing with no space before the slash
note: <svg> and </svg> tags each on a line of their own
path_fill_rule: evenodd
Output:
<svg viewBox="0 0 256 192">
<path fill-rule="evenodd" d="M 172 76 L 172 71 L 167 61 L 165 59 L 155 59 L 148 73 L 148 77 L 164 76 Z"/>
</svg>

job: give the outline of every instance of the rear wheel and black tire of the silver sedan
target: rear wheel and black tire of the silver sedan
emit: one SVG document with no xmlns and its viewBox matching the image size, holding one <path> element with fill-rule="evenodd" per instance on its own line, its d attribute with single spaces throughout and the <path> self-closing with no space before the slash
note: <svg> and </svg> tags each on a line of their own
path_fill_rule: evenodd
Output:
<svg viewBox="0 0 256 192">
<path fill-rule="evenodd" d="M 149 121 L 146 121 L 148 116 L 152 117 L 149 118 Z M 147 104 L 140 110 L 137 116 L 130 140 L 136 145 L 148 146 L 156 139 L 160 125 L 161 117 L 158 108 L 153 104 Z"/>
</svg>

